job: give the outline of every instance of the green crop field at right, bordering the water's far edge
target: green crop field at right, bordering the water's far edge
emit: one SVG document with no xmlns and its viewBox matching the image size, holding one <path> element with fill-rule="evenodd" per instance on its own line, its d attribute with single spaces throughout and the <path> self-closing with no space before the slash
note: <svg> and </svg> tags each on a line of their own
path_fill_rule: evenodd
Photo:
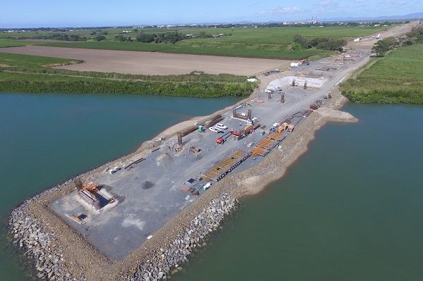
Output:
<svg viewBox="0 0 423 281">
<path fill-rule="evenodd" d="M 423 104 L 423 44 L 400 47 L 341 84 L 351 101 Z"/>
</svg>

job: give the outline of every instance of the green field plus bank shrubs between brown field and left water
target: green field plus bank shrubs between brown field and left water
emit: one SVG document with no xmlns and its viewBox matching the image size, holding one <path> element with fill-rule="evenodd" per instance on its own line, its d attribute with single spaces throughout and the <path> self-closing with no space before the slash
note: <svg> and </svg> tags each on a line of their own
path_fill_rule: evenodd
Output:
<svg viewBox="0 0 423 281">
<path fill-rule="evenodd" d="M 126 75 L 79 72 L 47 65 L 78 63 L 63 58 L 0 52 L 0 92 L 154 94 L 166 96 L 246 96 L 257 87 L 238 75 Z"/>
</svg>

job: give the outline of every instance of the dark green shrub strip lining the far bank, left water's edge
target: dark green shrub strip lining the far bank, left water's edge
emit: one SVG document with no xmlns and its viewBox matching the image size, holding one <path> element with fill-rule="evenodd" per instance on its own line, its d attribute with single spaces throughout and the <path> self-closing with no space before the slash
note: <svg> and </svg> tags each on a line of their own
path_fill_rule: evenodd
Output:
<svg viewBox="0 0 423 281">
<path fill-rule="evenodd" d="M 0 72 L 0 91 L 153 94 L 164 96 L 247 96 L 255 89 L 250 82 L 157 82 L 111 80 L 33 73 Z"/>
</svg>

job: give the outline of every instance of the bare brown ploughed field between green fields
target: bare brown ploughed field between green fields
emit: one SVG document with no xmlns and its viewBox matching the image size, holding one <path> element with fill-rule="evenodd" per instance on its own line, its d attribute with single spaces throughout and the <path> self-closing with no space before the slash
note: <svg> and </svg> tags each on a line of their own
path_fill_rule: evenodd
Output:
<svg viewBox="0 0 423 281">
<path fill-rule="evenodd" d="M 71 58 L 85 61 L 85 63 L 58 67 L 69 70 L 146 75 L 186 74 L 194 70 L 204 71 L 204 73 L 209 74 L 254 75 L 274 68 L 285 69 L 290 63 L 289 61 L 264 58 L 197 56 L 49 46 L 2 48 L 0 51 L 13 54 Z"/>
</svg>

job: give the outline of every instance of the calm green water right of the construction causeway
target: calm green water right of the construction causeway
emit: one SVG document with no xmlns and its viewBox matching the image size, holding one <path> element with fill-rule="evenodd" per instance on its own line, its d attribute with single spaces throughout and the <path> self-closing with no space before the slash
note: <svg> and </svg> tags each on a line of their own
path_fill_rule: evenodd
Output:
<svg viewBox="0 0 423 281">
<path fill-rule="evenodd" d="M 174 279 L 423 280 L 423 107 L 345 110 Z"/>
</svg>

